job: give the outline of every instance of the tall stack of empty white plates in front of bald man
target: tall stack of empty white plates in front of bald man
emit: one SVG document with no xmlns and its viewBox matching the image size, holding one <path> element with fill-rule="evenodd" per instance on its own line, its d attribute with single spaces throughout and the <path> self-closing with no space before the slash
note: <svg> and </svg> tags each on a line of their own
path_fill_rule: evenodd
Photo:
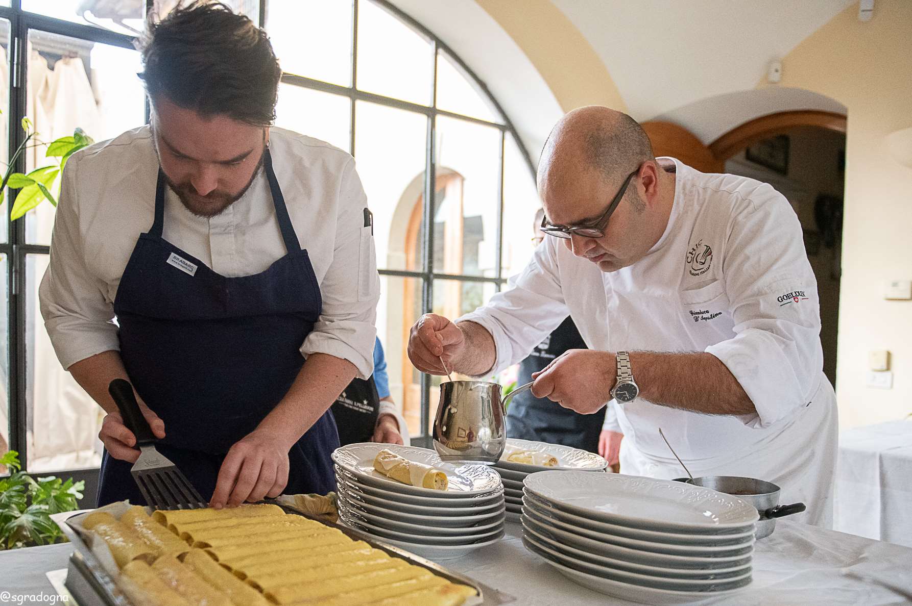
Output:
<svg viewBox="0 0 912 606">
<path fill-rule="evenodd" d="M 751 582 L 757 509 L 653 478 L 544 471 L 525 478 L 523 544 L 566 577 L 630 601 L 680 604 Z"/>
</svg>

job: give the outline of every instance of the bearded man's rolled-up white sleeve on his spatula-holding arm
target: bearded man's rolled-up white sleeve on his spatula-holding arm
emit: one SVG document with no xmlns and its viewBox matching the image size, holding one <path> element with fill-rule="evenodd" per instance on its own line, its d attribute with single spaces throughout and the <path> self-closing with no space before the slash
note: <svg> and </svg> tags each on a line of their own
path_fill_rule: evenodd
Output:
<svg viewBox="0 0 912 606">
<path fill-rule="evenodd" d="M 120 349 L 107 285 L 89 271 L 83 253 L 78 166 L 77 154 L 64 169 L 50 261 L 38 291 L 47 335 L 65 369 L 92 355 Z"/>
</svg>

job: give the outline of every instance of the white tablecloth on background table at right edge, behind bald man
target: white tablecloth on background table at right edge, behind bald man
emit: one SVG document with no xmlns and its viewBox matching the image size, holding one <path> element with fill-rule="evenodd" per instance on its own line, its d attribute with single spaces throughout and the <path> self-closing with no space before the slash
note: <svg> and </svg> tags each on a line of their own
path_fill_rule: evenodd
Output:
<svg viewBox="0 0 912 606">
<path fill-rule="evenodd" d="M 912 547 L 912 421 L 840 434 L 834 528 Z"/>
</svg>

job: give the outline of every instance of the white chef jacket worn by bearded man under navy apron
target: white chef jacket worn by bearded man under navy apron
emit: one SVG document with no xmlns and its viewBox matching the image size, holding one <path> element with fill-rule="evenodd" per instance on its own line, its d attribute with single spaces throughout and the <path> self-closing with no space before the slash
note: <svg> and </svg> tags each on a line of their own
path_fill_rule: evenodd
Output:
<svg viewBox="0 0 912 606">
<path fill-rule="evenodd" d="M 275 176 L 301 248 L 314 267 L 323 309 L 301 354 L 330 354 L 374 367 L 379 276 L 367 197 L 355 160 L 341 149 L 271 128 Z M 140 233 L 155 210 L 159 161 L 148 126 L 136 128 L 67 161 L 41 282 L 41 313 L 64 368 L 119 350 L 114 298 Z M 213 271 L 236 277 L 264 272 L 285 256 L 264 170 L 239 200 L 205 219 L 166 190 L 163 236 Z"/>
</svg>

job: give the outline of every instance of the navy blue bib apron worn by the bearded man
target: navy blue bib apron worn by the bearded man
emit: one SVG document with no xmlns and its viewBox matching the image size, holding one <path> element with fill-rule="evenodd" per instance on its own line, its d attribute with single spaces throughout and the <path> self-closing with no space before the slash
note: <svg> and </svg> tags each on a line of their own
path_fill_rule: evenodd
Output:
<svg viewBox="0 0 912 606">
<path fill-rule="evenodd" d="M 323 306 L 268 149 L 264 170 L 284 257 L 264 272 L 228 278 L 164 240 L 166 181 L 160 170 L 155 221 L 140 234 L 114 300 L 127 375 L 165 424 L 159 449 L 206 499 L 228 449 L 256 428 L 295 381 L 304 365 L 301 344 Z M 336 447 L 336 423 L 327 410 L 288 453 L 285 493 L 335 490 L 329 456 Z M 104 453 L 99 506 L 124 498 L 145 503 L 130 467 Z"/>
</svg>

